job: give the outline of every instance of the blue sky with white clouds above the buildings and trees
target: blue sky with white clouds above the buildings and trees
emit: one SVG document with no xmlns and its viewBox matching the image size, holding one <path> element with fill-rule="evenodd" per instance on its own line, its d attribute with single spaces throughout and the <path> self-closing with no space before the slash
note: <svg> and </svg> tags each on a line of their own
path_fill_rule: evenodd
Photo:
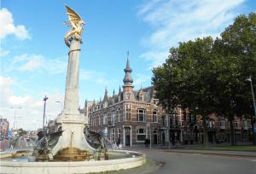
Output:
<svg viewBox="0 0 256 174">
<path fill-rule="evenodd" d="M 0 0 L 0 117 L 10 128 L 42 127 L 61 113 L 69 28 L 65 4 L 86 25 L 80 52 L 79 103 L 123 85 L 127 51 L 135 90 L 151 85 L 152 68 L 179 42 L 219 37 L 255 0 Z M 19 108 L 21 107 L 21 108 Z M 15 111 L 16 110 L 16 111 Z M 16 119 L 15 119 L 16 117 Z"/>
</svg>

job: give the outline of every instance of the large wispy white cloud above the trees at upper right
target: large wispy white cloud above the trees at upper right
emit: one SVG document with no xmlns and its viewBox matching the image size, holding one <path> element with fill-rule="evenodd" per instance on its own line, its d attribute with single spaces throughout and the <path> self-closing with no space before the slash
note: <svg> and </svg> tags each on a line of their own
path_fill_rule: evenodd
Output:
<svg viewBox="0 0 256 174">
<path fill-rule="evenodd" d="M 153 32 L 142 40 L 148 51 L 141 57 L 151 61 L 150 67 L 155 67 L 165 61 L 169 49 L 179 42 L 219 36 L 236 17 L 236 9 L 244 2 L 151 0 L 144 3 L 137 15 L 152 27 Z"/>
</svg>

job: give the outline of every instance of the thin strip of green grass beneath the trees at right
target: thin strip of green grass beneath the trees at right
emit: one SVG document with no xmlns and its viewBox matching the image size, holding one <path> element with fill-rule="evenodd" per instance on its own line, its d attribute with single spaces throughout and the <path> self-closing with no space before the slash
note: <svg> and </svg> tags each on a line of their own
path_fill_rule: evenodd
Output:
<svg viewBox="0 0 256 174">
<path fill-rule="evenodd" d="M 216 146 L 216 147 L 197 147 L 195 150 L 226 150 L 226 151 L 249 151 L 256 152 L 256 146 Z"/>
</svg>

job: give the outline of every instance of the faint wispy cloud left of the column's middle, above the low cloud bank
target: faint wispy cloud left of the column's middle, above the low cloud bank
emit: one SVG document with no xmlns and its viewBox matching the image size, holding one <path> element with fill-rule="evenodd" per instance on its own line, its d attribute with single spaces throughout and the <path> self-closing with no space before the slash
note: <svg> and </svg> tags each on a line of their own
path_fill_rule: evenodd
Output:
<svg viewBox="0 0 256 174">
<path fill-rule="evenodd" d="M 17 55 L 9 67 L 9 70 L 14 69 L 20 72 L 64 73 L 67 71 L 67 60 L 65 56 L 49 59 L 44 55 Z"/>
</svg>

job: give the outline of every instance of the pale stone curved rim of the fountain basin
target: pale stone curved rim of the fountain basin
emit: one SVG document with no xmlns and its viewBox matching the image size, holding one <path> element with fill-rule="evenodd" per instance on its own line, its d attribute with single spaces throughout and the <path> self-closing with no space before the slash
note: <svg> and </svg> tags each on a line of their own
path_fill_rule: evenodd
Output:
<svg viewBox="0 0 256 174">
<path fill-rule="evenodd" d="M 67 162 L 13 162 L 4 161 L 1 159 L 0 172 L 26 174 L 90 173 L 125 170 L 143 165 L 146 162 L 146 155 L 139 152 L 126 150 L 109 150 L 108 154 L 119 155 L 117 155 L 117 158 L 110 158 L 108 160 Z M 122 157 L 121 154 L 126 155 L 126 157 Z"/>
</svg>

